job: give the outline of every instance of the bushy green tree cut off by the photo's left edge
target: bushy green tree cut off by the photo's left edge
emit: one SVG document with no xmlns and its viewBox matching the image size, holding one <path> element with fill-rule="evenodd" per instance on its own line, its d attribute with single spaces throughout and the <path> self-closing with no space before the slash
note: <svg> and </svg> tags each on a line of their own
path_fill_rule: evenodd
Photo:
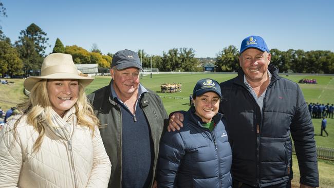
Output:
<svg viewBox="0 0 334 188">
<path fill-rule="evenodd" d="M 23 63 L 16 49 L 6 41 L 0 41 L 0 73 L 13 75 L 23 74 Z"/>
</svg>

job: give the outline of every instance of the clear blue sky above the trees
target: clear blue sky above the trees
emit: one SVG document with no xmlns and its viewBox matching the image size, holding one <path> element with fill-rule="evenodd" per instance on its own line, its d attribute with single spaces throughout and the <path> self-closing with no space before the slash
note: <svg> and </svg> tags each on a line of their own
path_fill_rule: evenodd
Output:
<svg viewBox="0 0 334 188">
<path fill-rule="evenodd" d="M 17 41 L 31 23 L 41 27 L 53 49 L 65 46 L 103 53 L 144 49 L 162 55 L 193 48 L 196 57 L 216 57 L 249 35 L 264 37 L 270 49 L 334 51 L 334 1 L 78 1 L 2 0 L 8 17 L 3 32 Z"/>
</svg>

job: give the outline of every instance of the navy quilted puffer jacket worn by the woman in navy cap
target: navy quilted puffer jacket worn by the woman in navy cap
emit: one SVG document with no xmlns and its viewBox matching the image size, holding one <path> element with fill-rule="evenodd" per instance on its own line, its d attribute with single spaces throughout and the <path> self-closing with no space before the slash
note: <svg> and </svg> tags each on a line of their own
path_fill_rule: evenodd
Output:
<svg viewBox="0 0 334 188">
<path fill-rule="evenodd" d="M 166 132 L 160 144 L 158 187 L 230 187 L 231 147 L 222 115 L 212 132 L 191 108 L 180 131 Z M 225 121 L 223 119 L 223 121 Z"/>
</svg>

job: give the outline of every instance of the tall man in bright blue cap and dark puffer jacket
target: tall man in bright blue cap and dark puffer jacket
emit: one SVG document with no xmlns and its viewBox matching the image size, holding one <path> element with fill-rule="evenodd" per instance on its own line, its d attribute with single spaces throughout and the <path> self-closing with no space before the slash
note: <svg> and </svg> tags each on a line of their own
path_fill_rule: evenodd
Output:
<svg viewBox="0 0 334 188">
<path fill-rule="evenodd" d="M 233 187 L 291 187 L 292 142 L 301 187 L 319 186 L 316 142 L 298 84 L 278 75 L 261 36 L 248 36 L 239 53 L 238 76 L 220 84 L 219 111 L 226 116 L 232 148 Z M 179 115 L 170 128 L 179 124 Z"/>
</svg>

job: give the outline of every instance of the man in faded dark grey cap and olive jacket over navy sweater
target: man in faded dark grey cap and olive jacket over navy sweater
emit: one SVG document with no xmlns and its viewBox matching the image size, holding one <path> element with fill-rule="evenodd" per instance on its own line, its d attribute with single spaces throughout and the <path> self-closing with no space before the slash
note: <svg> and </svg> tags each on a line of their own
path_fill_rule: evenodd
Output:
<svg viewBox="0 0 334 188">
<path fill-rule="evenodd" d="M 159 96 L 139 82 L 139 70 L 136 52 L 118 51 L 109 85 L 88 96 L 112 163 L 108 187 L 156 187 L 159 144 L 168 115 Z"/>
</svg>

